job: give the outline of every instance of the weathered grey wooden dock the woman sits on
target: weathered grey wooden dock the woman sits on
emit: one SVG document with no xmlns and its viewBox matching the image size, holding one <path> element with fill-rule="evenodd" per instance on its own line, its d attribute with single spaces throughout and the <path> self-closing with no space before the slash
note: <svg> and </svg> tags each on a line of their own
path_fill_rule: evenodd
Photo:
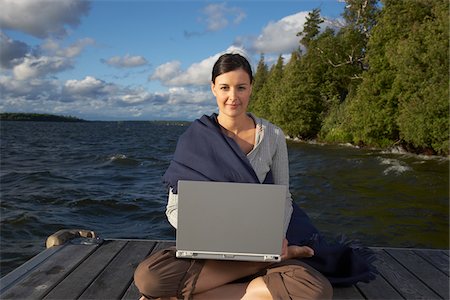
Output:
<svg viewBox="0 0 450 300">
<path fill-rule="evenodd" d="M 0 299 L 139 299 L 134 269 L 173 241 L 75 239 L 41 252 L 0 280 Z M 335 288 L 334 299 L 449 299 L 449 251 L 373 248 L 380 272 Z"/>
</svg>

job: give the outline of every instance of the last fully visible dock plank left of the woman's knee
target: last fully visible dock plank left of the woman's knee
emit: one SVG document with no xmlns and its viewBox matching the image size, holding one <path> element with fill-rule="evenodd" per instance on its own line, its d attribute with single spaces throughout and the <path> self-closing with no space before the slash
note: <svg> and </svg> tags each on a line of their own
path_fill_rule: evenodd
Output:
<svg viewBox="0 0 450 300">
<path fill-rule="evenodd" d="M 146 241 L 130 241 L 79 299 L 119 299 L 133 281 L 134 270 L 152 250 Z"/>
</svg>

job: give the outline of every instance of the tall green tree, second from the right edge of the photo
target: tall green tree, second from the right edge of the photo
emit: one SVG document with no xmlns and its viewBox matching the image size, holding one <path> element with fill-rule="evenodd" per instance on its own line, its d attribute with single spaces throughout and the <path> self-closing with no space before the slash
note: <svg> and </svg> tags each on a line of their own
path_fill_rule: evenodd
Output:
<svg viewBox="0 0 450 300">
<path fill-rule="evenodd" d="M 433 0 L 384 1 L 378 24 L 367 45 L 370 68 L 363 74 L 363 81 L 346 109 L 348 130 L 355 143 L 388 146 L 400 141 L 397 117 L 403 90 L 401 85 L 395 84 L 399 72 L 396 62 L 399 46 L 430 16 L 431 3 Z"/>
</svg>

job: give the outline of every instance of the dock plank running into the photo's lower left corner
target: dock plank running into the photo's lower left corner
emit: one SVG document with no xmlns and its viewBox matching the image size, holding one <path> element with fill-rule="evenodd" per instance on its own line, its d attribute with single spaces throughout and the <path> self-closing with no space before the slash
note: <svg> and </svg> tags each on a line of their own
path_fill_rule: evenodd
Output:
<svg viewBox="0 0 450 300">
<path fill-rule="evenodd" d="M 70 273 L 99 245 L 66 244 L 64 248 L 45 260 L 26 277 L 7 289 L 1 299 L 40 299 Z"/>
</svg>

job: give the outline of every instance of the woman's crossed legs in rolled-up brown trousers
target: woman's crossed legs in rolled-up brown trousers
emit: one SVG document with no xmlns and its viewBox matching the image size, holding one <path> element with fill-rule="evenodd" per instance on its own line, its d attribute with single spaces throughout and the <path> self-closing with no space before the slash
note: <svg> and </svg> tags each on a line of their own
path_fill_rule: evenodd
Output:
<svg viewBox="0 0 450 300">
<path fill-rule="evenodd" d="M 247 282 L 236 282 L 252 275 L 255 276 Z M 298 261 L 270 265 L 178 259 L 173 248 L 145 259 L 136 269 L 134 279 L 148 299 L 331 299 L 332 296 L 328 280 Z"/>
</svg>

